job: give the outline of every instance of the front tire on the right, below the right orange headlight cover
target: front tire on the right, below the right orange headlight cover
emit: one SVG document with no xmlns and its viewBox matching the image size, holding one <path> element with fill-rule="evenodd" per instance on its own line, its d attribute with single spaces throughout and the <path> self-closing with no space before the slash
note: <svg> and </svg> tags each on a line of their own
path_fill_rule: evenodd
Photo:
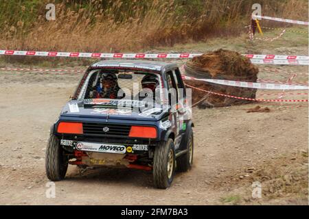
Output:
<svg viewBox="0 0 309 219">
<path fill-rule="evenodd" d="M 168 162 L 169 154 L 172 155 L 172 172 L 170 172 L 170 177 L 168 174 Z M 161 142 L 155 147 L 155 153 L 153 157 L 152 175 L 153 181 L 156 188 L 165 189 L 170 187 L 170 184 L 174 178 L 175 172 L 175 150 L 174 141 L 168 139 L 167 142 Z"/>
</svg>

